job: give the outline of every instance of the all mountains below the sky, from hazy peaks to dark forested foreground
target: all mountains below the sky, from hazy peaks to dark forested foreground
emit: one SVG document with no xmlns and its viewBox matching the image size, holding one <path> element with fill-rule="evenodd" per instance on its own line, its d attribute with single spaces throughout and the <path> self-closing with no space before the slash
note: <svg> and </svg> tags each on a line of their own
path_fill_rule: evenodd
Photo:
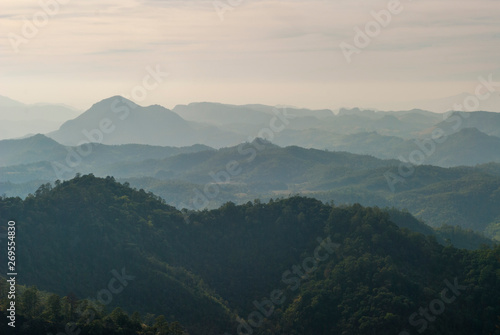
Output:
<svg viewBox="0 0 500 335">
<path fill-rule="evenodd" d="M 23 284 L 47 291 L 28 309 L 37 288 L 20 290 L 20 334 L 494 333 L 493 114 L 168 110 L 116 96 L 56 131 L 0 140 L 0 216 L 29 246 L 18 252 Z M 324 261 L 310 257 L 318 248 Z M 108 306 L 84 300 L 110 273 L 130 289 Z M 443 281 L 464 291 L 460 308 L 416 328 Z"/>
</svg>

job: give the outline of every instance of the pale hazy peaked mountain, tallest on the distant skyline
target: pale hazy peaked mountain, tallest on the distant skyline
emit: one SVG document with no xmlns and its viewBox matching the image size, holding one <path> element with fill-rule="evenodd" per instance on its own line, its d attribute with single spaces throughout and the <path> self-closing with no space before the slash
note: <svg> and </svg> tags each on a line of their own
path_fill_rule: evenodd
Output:
<svg viewBox="0 0 500 335">
<path fill-rule="evenodd" d="M 162 106 L 142 107 L 120 96 L 94 104 L 47 136 L 71 146 L 86 142 L 157 146 L 204 143 L 221 146 L 242 140 L 240 136 L 214 126 L 188 122 Z"/>
</svg>

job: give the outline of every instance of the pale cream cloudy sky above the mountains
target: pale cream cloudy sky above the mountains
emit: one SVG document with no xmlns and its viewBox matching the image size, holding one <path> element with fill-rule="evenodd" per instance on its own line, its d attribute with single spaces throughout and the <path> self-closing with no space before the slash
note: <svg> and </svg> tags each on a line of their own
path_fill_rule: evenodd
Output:
<svg viewBox="0 0 500 335">
<path fill-rule="evenodd" d="M 498 0 L 401 0 L 377 29 L 371 12 L 391 1 L 3 0 L 0 95 L 86 109 L 147 86 L 137 102 L 169 108 L 384 108 L 500 81 Z M 367 24 L 369 44 L 348 62 L 340 45 L 356 47 Z M 168 76 L 144 85 L 148 68 Z"/>
</svg>

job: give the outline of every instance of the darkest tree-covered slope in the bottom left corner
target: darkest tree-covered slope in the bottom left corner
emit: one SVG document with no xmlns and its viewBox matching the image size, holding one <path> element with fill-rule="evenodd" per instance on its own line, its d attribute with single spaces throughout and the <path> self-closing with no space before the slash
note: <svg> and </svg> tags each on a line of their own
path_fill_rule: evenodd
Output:
<svg viewBox="0 0 500 335">
<path fill-rule="evenodd" d="M 5 305 L 10 287 L 0 276 L 0 306 Z M 36 286 L 16 285 L 17 315 L 13 328 L 9 313 L 0 310 L 0 330 L 5 335 L 48 334 L 164 334 L 185 335 L 177 321 L 168 321 L 164 315 L 139 312 L 127 313 L 116 307 L 112 311 L 106 304 L 94 299 L 79 299 L 70 293 L 64 297 L 40 291 Z M 7 309 L 7 307 L 5 307 Z"/>
</svg>

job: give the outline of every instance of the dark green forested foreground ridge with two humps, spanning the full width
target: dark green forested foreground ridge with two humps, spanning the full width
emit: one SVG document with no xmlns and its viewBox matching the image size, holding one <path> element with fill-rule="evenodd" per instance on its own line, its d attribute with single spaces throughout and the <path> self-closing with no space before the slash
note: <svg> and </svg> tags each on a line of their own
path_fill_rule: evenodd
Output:
<svg viewBox="0 0 500 335">
<path fill-rule="evenodd" d="M 500 248 L 443 246 L 377 208 L 292 197 L 187 215 L 87 175 L 2 198 L 0 214 L 17 223 L 21 284 L 190 334 L 500 333 Z"/>
</svg>

